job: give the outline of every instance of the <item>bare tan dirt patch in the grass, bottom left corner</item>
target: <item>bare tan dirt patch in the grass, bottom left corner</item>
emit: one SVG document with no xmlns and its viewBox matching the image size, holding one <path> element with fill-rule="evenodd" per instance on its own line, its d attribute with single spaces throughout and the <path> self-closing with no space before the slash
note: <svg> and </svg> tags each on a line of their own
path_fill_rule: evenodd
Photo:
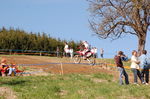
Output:
<svg viewBox="0 0 150 99">
<path fill-rule="evenodd" d="M 15 93 L 8 87 L 0 87 L 0 96 L 2 99 L 17 99 Z"/>
</svg>

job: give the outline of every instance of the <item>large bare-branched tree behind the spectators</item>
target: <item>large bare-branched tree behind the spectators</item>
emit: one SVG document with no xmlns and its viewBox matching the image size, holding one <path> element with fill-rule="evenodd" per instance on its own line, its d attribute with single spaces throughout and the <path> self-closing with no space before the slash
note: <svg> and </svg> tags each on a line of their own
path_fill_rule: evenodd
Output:
<svg viewBox="0 0 150 99">
<path fill-rule="evenodd" d="M 91 29 L 103 39 L 118 39 L 132 34 L 138 37 L 138 51 L 145 49 L 150 25 L 150 0 L 88 0 Z"/>
</svg>

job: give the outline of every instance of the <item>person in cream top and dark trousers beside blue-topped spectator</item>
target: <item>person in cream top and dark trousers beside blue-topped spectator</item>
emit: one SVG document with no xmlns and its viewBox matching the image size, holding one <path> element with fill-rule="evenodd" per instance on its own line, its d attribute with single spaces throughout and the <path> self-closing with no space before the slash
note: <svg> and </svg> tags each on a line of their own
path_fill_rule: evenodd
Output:
<svg viewBox="0 0 150 99">
<path fill-rule="evenodd" d="M 140 68 L 139 63 L 140 61 L 138 60 L 138 57 L 137 57 L 137 51 L 134 50 L 132 52 L 132 57 L 131 57 L 131 71 L 133 72 L 133 75 L 134 75 L 134 84 L 138 84 L 137 76 L 141 80 L 141 73 L 139 71 L 139 68 Z"/>
</svg>

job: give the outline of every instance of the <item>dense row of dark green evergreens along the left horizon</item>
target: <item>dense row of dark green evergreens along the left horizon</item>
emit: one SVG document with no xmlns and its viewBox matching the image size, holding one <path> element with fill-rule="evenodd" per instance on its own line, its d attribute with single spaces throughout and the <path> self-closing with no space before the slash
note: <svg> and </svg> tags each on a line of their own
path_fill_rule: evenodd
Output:
<svg viewBox="0 0 150 99">
<path fill-rule="evenodd" d="M 56 39 L 46 33 L 32 33 L 20 29 L 0 29 L 0 49 L 56 51 L 59 47 L 63 51 L 64 42 L 76 49 L 79 42 Z"/>
</svg>

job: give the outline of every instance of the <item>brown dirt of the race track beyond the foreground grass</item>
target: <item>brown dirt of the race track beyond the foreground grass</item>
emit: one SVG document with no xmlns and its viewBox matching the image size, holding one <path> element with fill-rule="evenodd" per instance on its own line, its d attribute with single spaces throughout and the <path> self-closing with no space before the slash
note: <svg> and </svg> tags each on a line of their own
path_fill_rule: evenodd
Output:
<svg viewBox="0 0 150 99">
<path fill-rule="evenodd" d="M 78 74 L 92 74 L 92 73 L 107 73 L 114 75 L 114 80 L 118 79 L 118 71 L 115 67 L 106 65 L 84 65 L 84 64 L 64 64 L 73 63 L 70 58 L 56 58 L 56 57 L 44 57 L 44 56 L 3 56 L 7 59 L 8 63 L 15 62 L 16 64 L 43 64 L 43 63 L 59 63 L 59 64 L 48 64 L 48 65 L 32 65 L 30 67 L 34 72 L 34 75 L 47 75 L 47 73 L 63 74 L 78 73 Z M 1 57 L 2 58 L 2 57 Z M 61 63 L 62 68 L 61 69 Z M 87 61 L 82 61 L 87 63 Z M 35 73 L 37 71 L 37 74 Z M 32 73 L 31 72 L 31 73 Z M 130 74 L 131 76 L 131 74 Z M 130 77 L 131 79 L 131 77 Z"/>
</svg>

